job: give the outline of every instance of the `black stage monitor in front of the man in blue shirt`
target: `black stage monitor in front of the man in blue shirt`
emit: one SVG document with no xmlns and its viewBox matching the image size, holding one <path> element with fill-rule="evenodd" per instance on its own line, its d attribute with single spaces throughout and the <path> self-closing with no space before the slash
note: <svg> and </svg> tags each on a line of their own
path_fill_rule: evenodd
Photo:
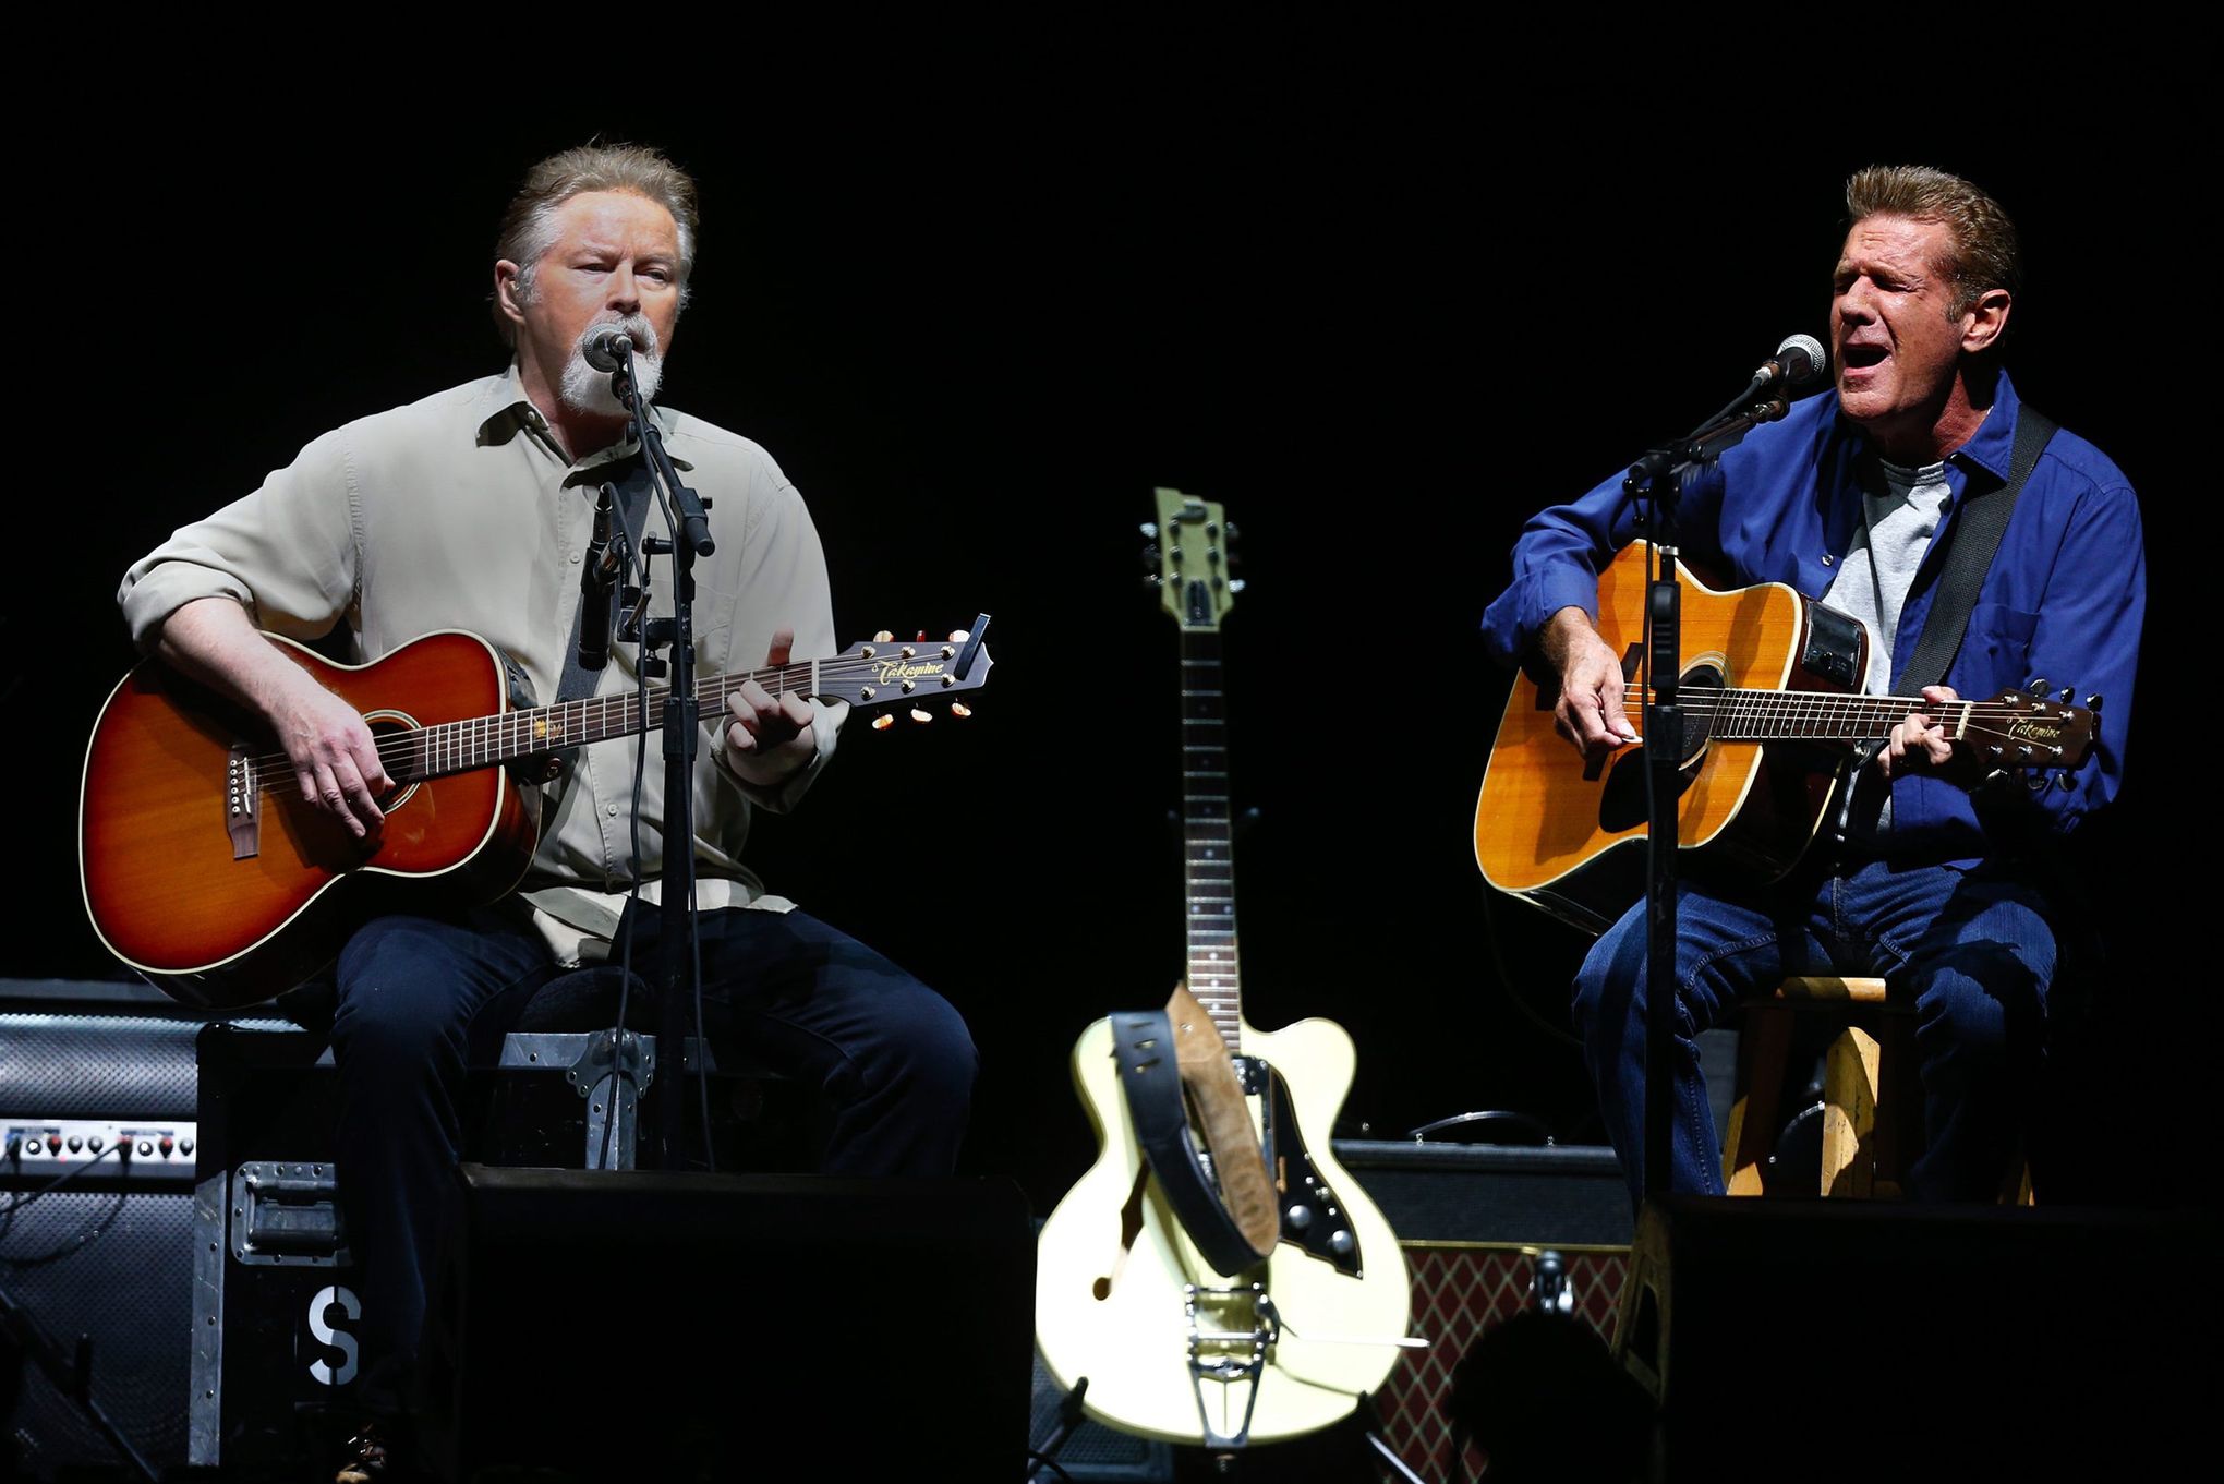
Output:
<svg viewBox="0 0 2224 1484">
<path fill-rule="evenodd" d="M 1619 1346 L 1670 1480 L 2171 1477 L 2208 1426 L 2208 1213 L 1672 1197 Z"/>
</svg>

